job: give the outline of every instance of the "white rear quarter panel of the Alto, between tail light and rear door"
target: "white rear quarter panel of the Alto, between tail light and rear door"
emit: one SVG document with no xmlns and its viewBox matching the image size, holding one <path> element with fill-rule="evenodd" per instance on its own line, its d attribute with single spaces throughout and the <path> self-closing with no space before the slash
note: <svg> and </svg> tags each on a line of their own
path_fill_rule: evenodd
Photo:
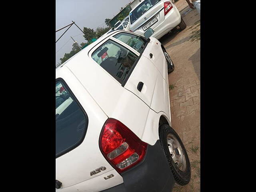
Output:
<svg viewBox="0 0 256 192">
<path fill-rule="evenodd" d="M 90 53 L 93 51 L 94 49 Z M 87 55 L 86 52 L 83 54 Z M 150 108 L 140 98 L 122 87 L 116 79 L 91 57 L 88 58 L 79 54 L 72 61 L 66 66 L 75 74 L 81 84 L 86 87 L 107 116 L 120 120 L 141 138 L 142 135 L 139 128 L 144 128 Z M 85 76 L 85 71 L 93 71 L 94 73 L 87 72 Z M 97 74 L 97 78 L 95 78 L 95 74 Z M 99 85 L 100 89 L 97 89 L 96 87 Z M 134 111 L 134 105 L 138 107 L 138 110 Z M 129 114 L 129 116 L 126 114 Z M 136 125 L 134 124 L 135 122 Z"/>
</svg>

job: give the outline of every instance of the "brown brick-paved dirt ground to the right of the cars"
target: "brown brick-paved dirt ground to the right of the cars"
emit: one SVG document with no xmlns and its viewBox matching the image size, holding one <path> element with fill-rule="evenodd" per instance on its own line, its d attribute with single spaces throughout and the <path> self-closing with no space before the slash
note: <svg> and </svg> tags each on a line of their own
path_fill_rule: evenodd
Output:
<svg viewBox="0 0 256 192">
<path fill-rule="evenodd" d="M 173 192 L 200 192 L 200 16 L 185 0 L 175 2 L 187 27 L 160 39 L 174 62 L 169 74 L 172 127 L 184 142 L 191 164 L 188 185 Z"/>
</svg>

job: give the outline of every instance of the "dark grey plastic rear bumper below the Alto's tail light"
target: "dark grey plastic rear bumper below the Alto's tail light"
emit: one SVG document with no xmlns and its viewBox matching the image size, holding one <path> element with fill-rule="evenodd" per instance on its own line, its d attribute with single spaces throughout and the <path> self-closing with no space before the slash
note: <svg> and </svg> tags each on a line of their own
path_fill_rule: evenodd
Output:
<svg viewBox="0 0 256 192">
<path fill-rule="evenodd" d="M 171 192 L 174 177 L 158 140 L 140 164 L 121 174 L 124 183 L 101 192 Z"/>
</svg>

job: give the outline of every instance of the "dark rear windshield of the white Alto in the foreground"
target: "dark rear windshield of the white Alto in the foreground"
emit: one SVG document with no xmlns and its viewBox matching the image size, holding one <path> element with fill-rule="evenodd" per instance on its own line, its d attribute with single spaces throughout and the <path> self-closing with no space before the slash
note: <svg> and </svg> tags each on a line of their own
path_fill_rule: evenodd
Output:
<svg viewBox="0 0 256 192">
<path fill-rule="evenodd" d="M 66 84 L 56 81 L 56 157 L 72 150 L 84 139 L 88 119 Z"/>
</svg>

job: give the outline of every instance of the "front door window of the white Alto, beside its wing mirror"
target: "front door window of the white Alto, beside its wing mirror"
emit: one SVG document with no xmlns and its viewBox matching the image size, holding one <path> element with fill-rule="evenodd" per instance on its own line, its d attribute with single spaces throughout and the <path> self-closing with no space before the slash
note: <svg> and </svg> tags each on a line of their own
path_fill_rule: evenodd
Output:
<svg viewBox="0 0 256 192">
<path fill-rule="evenodd" d="M 114 38 L 126 43 L 130 47 L 134 48 L 139 53 L 142 53 L 146 41 L 139 36 L 130 33 L 118 33 Z"/>
</svg>

